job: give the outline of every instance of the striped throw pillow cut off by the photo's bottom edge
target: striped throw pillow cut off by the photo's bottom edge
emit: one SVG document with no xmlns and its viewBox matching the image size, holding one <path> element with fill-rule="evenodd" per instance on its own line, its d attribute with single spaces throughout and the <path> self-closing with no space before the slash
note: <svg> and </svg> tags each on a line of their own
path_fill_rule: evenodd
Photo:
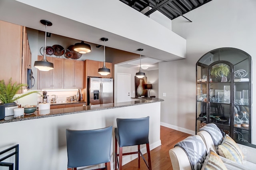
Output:
<svg viewBox="0 0 256 170">
<path fill-rule="evenodd" d="M 210 148 L 201 170 L 227 170 L 227 168 L 220 159 L 220 156 Z"/>
</svg>

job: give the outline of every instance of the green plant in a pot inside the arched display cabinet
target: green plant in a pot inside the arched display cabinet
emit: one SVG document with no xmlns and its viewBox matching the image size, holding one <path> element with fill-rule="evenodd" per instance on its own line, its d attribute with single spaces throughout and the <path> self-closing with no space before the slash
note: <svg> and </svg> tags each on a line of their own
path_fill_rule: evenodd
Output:
<svg viewBox="0 0 256 170">
<path fill-rule="evenodd" d="M 227 82 L 227 76 L 230 73 L 230 67 L 227 64 L 216 64 L 212 66 L 211 75 L 218 78 L 221 78 L 221 82 Z"/>
</svg>

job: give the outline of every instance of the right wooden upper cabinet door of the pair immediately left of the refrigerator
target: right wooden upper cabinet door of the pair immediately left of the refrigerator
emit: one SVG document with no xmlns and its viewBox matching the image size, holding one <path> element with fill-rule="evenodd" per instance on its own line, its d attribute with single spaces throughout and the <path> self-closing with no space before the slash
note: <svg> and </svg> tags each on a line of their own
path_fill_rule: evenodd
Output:
<svg viewBox="0 0 256 170">
<path fill-rule="evenodd" d="M 74 88 L 84 88 L 84 61 L 74 61 Z"/>
</svg>

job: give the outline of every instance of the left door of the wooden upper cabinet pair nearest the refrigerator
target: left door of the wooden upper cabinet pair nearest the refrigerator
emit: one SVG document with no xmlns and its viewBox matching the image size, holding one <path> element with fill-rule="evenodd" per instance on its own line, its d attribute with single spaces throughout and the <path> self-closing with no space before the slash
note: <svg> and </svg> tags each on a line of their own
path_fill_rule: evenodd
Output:
<svg viewBox="0 0 256 170">
<path fill-rule="evenodd" d="M 74 89 L 73 60 L 64 59 L 64 89 Z"/>
</svg>

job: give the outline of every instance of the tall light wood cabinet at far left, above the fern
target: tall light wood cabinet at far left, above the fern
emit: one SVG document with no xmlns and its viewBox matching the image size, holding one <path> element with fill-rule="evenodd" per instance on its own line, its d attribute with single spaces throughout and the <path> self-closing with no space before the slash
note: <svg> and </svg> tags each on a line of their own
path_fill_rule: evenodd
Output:
<svg viewBox="0 0 256 170">
<path fill-rule="evenodd" d="M 31 52 L 26 27 L 0 20 L 0 67 L 6 70 L 1 80 L 6 83 L 27 83 L 27 68 L 31 66 Z M 8 71 L 7 71 L 8 70 Z"/>
</svg>

